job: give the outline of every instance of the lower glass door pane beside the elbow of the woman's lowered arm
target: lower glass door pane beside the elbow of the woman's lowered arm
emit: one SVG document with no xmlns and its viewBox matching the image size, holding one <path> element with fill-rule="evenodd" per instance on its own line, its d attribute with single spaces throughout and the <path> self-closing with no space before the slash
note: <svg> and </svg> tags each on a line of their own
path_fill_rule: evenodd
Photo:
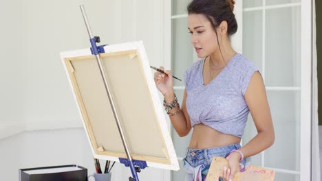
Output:
<svg viewBox="0 0 322 181">
<path fill-rule="evenodd" d="M 299 171 L 301 94 L 299 91 L 270 90 L 268 100 L 275 143 L 265 152 L 264 165 Z"/>
</svg>

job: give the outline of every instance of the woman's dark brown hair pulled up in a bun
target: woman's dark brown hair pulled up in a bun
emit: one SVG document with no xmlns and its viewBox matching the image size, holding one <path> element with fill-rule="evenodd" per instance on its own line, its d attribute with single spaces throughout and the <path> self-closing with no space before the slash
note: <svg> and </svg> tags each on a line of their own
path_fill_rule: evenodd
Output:
<svg viewBox="0 0 322 181">
<path fill-rule="evenodd" d="M 216 29 L 222 21 L 228 24 L 228 35 L 237 32 L 237 21 L 233 13 L 234 0 L 193 0 L 189 3 L 188 14 L 204 14 Z"/>
</svg>

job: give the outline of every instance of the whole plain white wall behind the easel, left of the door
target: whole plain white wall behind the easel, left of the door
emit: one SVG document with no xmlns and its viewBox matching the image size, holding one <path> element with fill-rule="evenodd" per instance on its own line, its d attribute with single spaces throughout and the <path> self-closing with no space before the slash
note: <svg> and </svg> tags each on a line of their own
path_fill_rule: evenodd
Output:
<svg viewBox="0 0 322 181">
<path fill-rule="evenodd" d="M 0 6 L 0 169 L 4 178 L 1 180 L 17 180 L 21 168 L 48 165 L 78 164 L 87 167 L 89 173 L 94 172 L 89 143 L 59 56 L 61 51 L 89 47 L 79 8 L 82 3 L 92 31 L 100 36 L 102 44 L 143 40 L 150 64 L 160 66 L 164 62 L 163 1 L 3 3 Z M 169 171 L 148 168 L 139 177 L 167 180 L 164 178 L 167 174 Z M 129 176 L 128 168 L 116 165 L 113 180 L 127 180 Z"/>
</svg>

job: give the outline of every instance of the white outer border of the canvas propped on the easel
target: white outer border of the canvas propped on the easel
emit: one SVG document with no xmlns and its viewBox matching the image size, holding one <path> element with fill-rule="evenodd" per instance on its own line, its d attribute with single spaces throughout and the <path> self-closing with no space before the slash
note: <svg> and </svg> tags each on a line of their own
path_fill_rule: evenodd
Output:
<svg viewBox="0 0 322 181">
<path fill-rule="evenodd" d="M 158 125 L 160 127 L 161 134 L 159 134 L 159 135 L 161 136 L 162 140 L 164 141 L 165 149 L 166 149 L 165 152 L 167 152 L 167 156 L 169 156 L 168 163 L 159 162 L 158 159 L 155 159 L 155 161 L 150 159 L 149 161 L 147 161 L 147 165 L 148 165 L 148 167 L 178 170 L 179 165 L 178 165 L 177 156 L 175 154 L 175 149 L 174 149 L 173 143 L 171 141 L 171 136 L 169 134 L 167 121 L 166 121 L 166 118 L 164 117 L 162 103 L 159 99 L 158 90 L 155 87 L 155 83 L 153 81 L 153 75 L 152 75 L 151 69 L 149 67 L 149 60 L 147 58 L 147 54 L 145 53 L 145 49 L 144 49 L 144 45 L 143 45 L 142 41 L 133 42 L 133 43 L 122 43 L 122 44 L 117 44 L 117 45 L 108 45 L 108 46 L 104 47 L 104 49 L 105 49 L 105 54 L 106 53 L 117 53 L 120 51 L 133 51 L 133 50 L 135 50 L 138 53 L 138 55 L 140 56 L 140 60 L 142 63 L 142 68 L 143 68 L 142 73 L 144 73 L 145 80 L 147 81 L 147 86 L 149 88 L 149 93 L 151 93 L 151 100 L 153 102 L 153 107 L 155 109 L 155 117 L 157 117 L 156 121 L 158 121 Z M 81 109 L 81 105 L 79 104 L 78 97 L 77 97 L 77 94 L 75 91 L 75 87 L 73 86 L 72 79 L 70 76 L 69 68 L 66 63 L 67 60 L 70 60 L 72 58 L 81 58 L 81 57 L 88 58 L 89 56 L 92 56 L 90 49 L 81 49 L 81 50 L 67 51 L 67 52 L 61 53 L 61 60 L 63 62 L 63 66 L 64 66 L 65 71 L 67 73 L 67 79 L 69 81 L 69 84 L 72 86 L 73 95 L 76 100 L 78 111 L 81 114 L 83 126 L 85 128 L 85 132 L 87 133 L 87 138 L 88 138 L 89 143 L 91 145 L 91 149 L 92 149 L 92 153 L 94 155 L 94 158 L 103 159 L 103 160 L 113 160 L 113 161 L 119 162 L 119 159 L 118 159 L 119 157 L 115 156 L 115 154 L 110 154 L 110 155 L 98 154 L 97 150 L 94 149 L 93 143 L 91 141 L 90 132 L 87 130 L 88 128 L 87 128 L 87 125 L 85 124 L 85 119 L 83 118 L 84 115 L 83 115 L 83 112 Z M 93 56 L 93 58 L 94 58 L 94 56 Z M 112 120 L 112 121 L 115 122 L 115 120 Z M 133 128 L 133 129 L 135 129 L 135 128 Z M 149 128 L 147 128 L 147 129 L 149 129 Z M 156 135 L 158 135 L 158 134 L 156 134 Z M 147 146 L 149 146 L 149 145 L 147 145 Z M 122 153 L 122 154 L 124 157 L 125 154 L 124 153 Z M 140 158 L 144 158 L 144 156 L 141 156 Z M 133 158 L 133 159 L 135 159 L 135 158 Z M 140 160 L 142 160 L 142 159 L 140 159 Z"/>
</svg>

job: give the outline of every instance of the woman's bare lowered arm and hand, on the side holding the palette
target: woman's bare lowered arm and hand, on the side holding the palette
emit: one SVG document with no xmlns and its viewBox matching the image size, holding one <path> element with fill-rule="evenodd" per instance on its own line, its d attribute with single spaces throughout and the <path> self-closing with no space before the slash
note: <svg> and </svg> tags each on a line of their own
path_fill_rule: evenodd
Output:
<svg viewBox="0 0 322 181">
<path fill-rule="evenodd" d="M 244 97 L 257 129 L 257 135 L 244 145 L 244 147 L 239 149 L 244 157 L 249 157 L 264 151 L 264 149 L 270 147 L 275 141 L 275 133 L 272 117 L 270 115 L 270 107 L 268 106 L 266 97 L 266 89 L 264 81 L 258 71 L 256 71 L 250 79 Z M 240 158 L 241 154 L 238 152 L 233 152 L 226 158 L 231 170 L 224 169 L 222 175 L 224 179 L 233 180 L 233 178 L 235 178 L 235 174 L 239 170 L 238 165 Z"/>
</svg>

